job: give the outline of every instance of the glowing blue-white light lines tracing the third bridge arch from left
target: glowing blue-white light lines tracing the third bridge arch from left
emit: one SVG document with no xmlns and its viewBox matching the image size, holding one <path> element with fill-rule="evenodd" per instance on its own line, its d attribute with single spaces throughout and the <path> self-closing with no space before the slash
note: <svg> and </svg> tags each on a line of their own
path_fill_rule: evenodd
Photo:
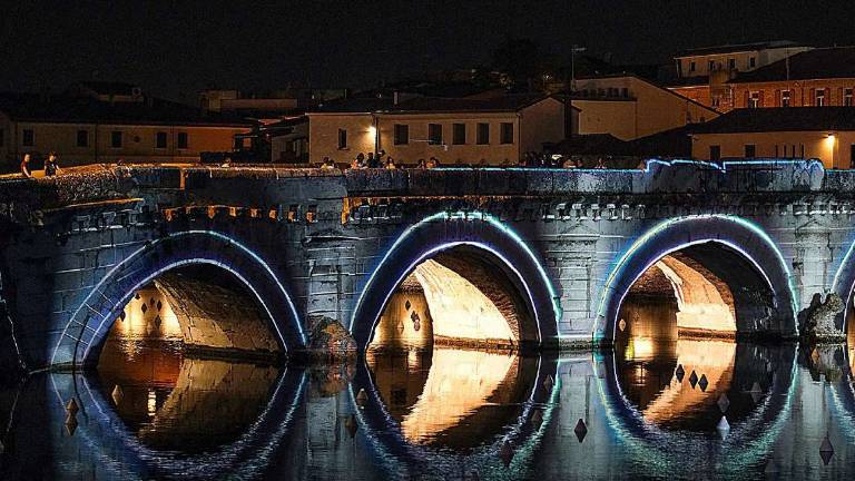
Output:
<svg viewBox="0 0 855 481">
<path fill-rule="evenodd" d="M 705 219 L 705 218 L 720 218 L 720 219 L 724 219 L 724 220 L 736 223 L 736 224 L 738 224 L 738 225 L 740 225 L 743 227 L 748 228 L 754 234 L 758 235 L 764 240 L 764 243 L 767 246 L 772 247 L 773 252 L 775 253 L 775 256 L 778 259 L 778 263 L 784 268 L 784 272 L 787 275 L 787 284 L 788 284 L 787 288 L 789 289 L 789 293 L 790 293 L 790 308 L 793 311 L 793 318 L 796 320 L 798 317 L 798 304 L 797 304 L 798 303 L 798 291 L 796 289 L 796 286 L 793 283 L 793 274 L 789 272 L 789 267 L 787 266 L 787 263 L 784 259 L 784 254 L 780 252 L 780 249 L 775 244 L 775 242 L 772 239 L 772 237 L 769 237 L 769 235 L 763 228 L 760 228 L 758 225 L 756 225 L 756 224 L 754 224 L 754 223 L 751 223 L 751 222 L 749 222 L 749 220 L 747 220 L 747 219 L 745 219 L 743 217 L 737 217 L 737 216 L 731 216 L 731 215 L 726 215 L 726 214 L 700 214 L 700 215 L 675 217 L 675 218 L 662 220 L 661 223 L 655 225 L 653 227 L 651 227 L 647 232 L 645 232 L 645 234 L 642 234 L 640 237 L 638 237 L 632 243 L 632 245 L 630 245 L 627 248 L 627 251 L 620 256 L 618 262 L 615 263 L 615 267 L 611 269 L 611 272 L 609 273 L 609 276 L 606 278 L 606 283 L 603 283 L 602 294 L 600 296 L 600 305 L 599 305 L 599 308 L 597 310 L 597 315 L 599 317 L 605 317 L 606 316 L 607 310 L 608 310 L 608 301 L 609 301 L 609 298 L 611 298 L 610 293 L 612 291 L 615 291 L 613 287 L 612 287 L 612 284 L 615 283 L 615 279 L 617 278 L 618 274 L 623 271 L 627 262 L 630 261 L 630 258 L 635 255 L 635 253 L 639 248 L 641 248 L 645 244 L 647 244 L 653 236 L 656 236 L 657 234 L 659 234 L 661 232 L 665 232 L 667 228 L 669 228 L 669 227 L 671 227 L 674 225 L 681 224 L 681 223 L 687 223 L 687 222 L 699 220 L 699 219 Z M 766 275 L 766 272 L 763 269 L 763 266 L 760 266 L 759 263 L 754 257 L 748 255 L 747 252 L 745 252 L 741 247 L 737 246 L 736 244 L 734 244 L 734 243 L 731 243 L 729 240 L 719 239 L 719 238 L 699 239 L 699 240 L 695 240 L 695 242 L 690 242 L 690 243 L 685 243 L 685 244 L 681 244 L 679 247 L 677 247 L 675 249 L 670 249 L 668 252 L 660 253 L 659 255 L 657 255 L 657 257 L 652 262 L 650 262 L 645 267 L 645 269 L 641 271 L 641 273 L 647 271 L 648 267 L 653 265 L 657 261 L 659 261 L 664 256 L 666 256 L 666 255 L 668 255 L 668 254 L 670 254 L 672 252 L 679 251 L 681 248 L 688 247 L 690 245 L 695 245 L 695 244 L 699 244 L 699 243 L 704 243 L 704 242 L 721 243 L 721 244 L 727 245 L 728 247 L 731 247 L 731 248 L 736 249 L 740 254 L 743 254 L 749 262 L 751 262 L 751 264 L 754 264 L 754 266 L 757 268 L 757 271 L 764 276 L 764 278 L 766 279 L 767 284 L 769 284 L 769 287 L 772 287 L 773 291 L 775 289 L 775 286 L 772 285 L 772 283 L 769 282 L 768 276 Z M 635 283 L 635 281 L 637 281 L 637 279 L 638 279 L 638 277 L 636 277 L 632 282 Z M 626 296 L 626 293 L 622 293 L 621 294 L 621 302 L 622 302 L 622 298 L 625 296 Z M 608 323 L 610 321 L 606 320 L 606 322 Z M 601 334 L 602 334 L 602 333 L 597 332 L 597 327 L 598 327 L 598 325 L 597 325 L 597 323 L 594 323 L 594 325 L 593 325 L 593 333 L 592 333 L 594 338 L 599 338 L 598 335 L 601 336 Z M 796 328 L 798 326 L 796 326 Z"/>
</svg>

